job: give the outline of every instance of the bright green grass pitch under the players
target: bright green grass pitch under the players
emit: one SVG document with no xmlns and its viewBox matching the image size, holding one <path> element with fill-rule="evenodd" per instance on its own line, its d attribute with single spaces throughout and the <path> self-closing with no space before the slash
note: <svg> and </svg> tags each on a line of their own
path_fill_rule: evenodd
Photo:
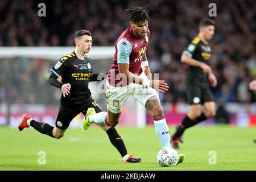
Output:
<svg viewBox="0 0 256 182">
<path fill-rule="evenodd" d="M 174 126 L 169 127 L 172 135 Z M 123 163 L 108 135 L 97 126 L 88 131 L 68 129 L 59 140 L 32 127 L 23 131 L 0 127 L 0 170 L 256 170 L 256 128 L 192 127 L 185 131 L 184 143 L 177 150 L 186 155 L 184 163 L 176 167 L 160 167 L 156 162 L 161 147 L 154 127 L 118 126 L 117 130 L 129 154 L 142 158 L 141 163 Z M 39 151 L 46 152 L 46 164 L 38 164 Z M 209 164 L 210 151 L 216 152 L 217 164 Z"/>
</svg>

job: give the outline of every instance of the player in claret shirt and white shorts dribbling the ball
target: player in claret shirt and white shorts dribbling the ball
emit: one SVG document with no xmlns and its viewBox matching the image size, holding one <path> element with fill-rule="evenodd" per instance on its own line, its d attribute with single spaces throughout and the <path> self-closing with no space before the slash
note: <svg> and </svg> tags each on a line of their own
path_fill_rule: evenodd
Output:
<svg viewBox="0 0 256 182">
<path fill-rule="evenodd" d="M 149 79 L 150 68 L 146 56 L 150 38 L 148 11 L 146 6 L 129 6 L 124 14 L 129 20 L 130 27 L 122 32 L 115 43 L 113 64 L 106 80 L 108 113 L 89 115 L 84 119 L 84 128 L 88 129 L 92 123 L 116 126 L 122 113 L 123 102 L 131 95 L 146 107 L 154 118 L 156 135 L 162 147 L 171 147 L 169 128 L 156 92 L 165 92 L 168 85 L 164 80 Z M 183 160 L 184 154 L 179 155 L 179 163 Z"/>
</svg>

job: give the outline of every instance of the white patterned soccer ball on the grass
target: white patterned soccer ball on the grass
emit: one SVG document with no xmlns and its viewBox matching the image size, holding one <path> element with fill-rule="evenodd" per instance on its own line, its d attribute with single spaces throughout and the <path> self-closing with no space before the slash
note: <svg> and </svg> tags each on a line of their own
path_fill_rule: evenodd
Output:
<svg viewBox="0 0 256 182">
<path fill-rule="evenodd" d="M 158 163 L 162 167 L 174 167 L 179 161 L 179 155 L 177 154 L 177 151 L 171 147 L 161 148 L 156 158 L 158 159 Z"/>
</svg>

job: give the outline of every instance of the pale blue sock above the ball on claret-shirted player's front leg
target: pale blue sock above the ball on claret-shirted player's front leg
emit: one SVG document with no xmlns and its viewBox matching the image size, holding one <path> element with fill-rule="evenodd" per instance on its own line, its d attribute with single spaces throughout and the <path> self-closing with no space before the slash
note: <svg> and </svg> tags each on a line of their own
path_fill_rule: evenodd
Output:
<svg viewBox="0 0 256 182">
<path fill-rule="evenodd" d="M 158 136 L 158 138 L 160 140 L 162 148 L 163 147 L 171 147 L 171 145 L 170 145 L 170 139 L 171 139 L 170 131 L 169 131 L 169 128 L 168 128 L 167 123 L 166 123 L 166 118 L 163 118 L 159 121 L 154 120 L 154 123 L 155 123 L 155 132 L 156 132 L 156 135 Z"/>
</svg>

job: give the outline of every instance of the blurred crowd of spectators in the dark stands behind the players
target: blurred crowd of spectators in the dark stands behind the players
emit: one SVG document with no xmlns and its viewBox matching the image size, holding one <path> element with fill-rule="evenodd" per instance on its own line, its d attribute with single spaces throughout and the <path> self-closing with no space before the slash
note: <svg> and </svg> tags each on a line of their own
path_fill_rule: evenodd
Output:
<svg viewBox="0 0 256 182">
<path fill-rule="evenodd" d="M 73 35 L 80 29 L 92 32 L 93 46 L 114 46 L 118 36 L 129 26 L 123 15 L 127 5 L 149 4 L 151 37 L 148 61 L 151 72 L 160 73 L 160 78 L 170 86 L 170 90 L 161 94 L 160 98 L 163 102 L 187 102 L 184 75 L 188 66 L 180 62 L 180 56 L 197 36 L 200 20 L 209 18 L 208 5 L 211 1 L 56 0 L 46 2 L 46 17 L 38 16 L 39 3 L 0 1 L 0 46 L 74 46 Z M 255 94 L 249 91 L 248 83 L 256 78 L 256 1 L 219 0 L 214 3 L 217 5 L 217 17 L 212 19 L 217 25 L 210 42 L 211 67 L 218 80 L 218 86 L 212 88 L 214 97 L 221 103 L 253 102 Z M 2 70 L 5 70 L 5 65 L 8 66 L 4 62 L 0 60 Z M 15 72 L 19 73 L 15 77 L 17 82 L 20 85 L 40 85 L 44 82 L 46 86 L 44 72 L 50 66 L 43 61 L 40 63 L 34 67 L 33 64 L 24 65 L 22 73 Z M 18 67 L 20 65 L 14 68 Z M 2 70 L 1 85 L 5 82 Z M 22 89 L 16 92 L 22 93 Z M 35 100 L 36 92 L 35 96 L 30 96 Z M 1 93 L 4 92 L 0 88 L 0 101 L 1 96 L 3 98 Z M 26 101 L 33 100 L 28 98 Z"/>
</svg>

